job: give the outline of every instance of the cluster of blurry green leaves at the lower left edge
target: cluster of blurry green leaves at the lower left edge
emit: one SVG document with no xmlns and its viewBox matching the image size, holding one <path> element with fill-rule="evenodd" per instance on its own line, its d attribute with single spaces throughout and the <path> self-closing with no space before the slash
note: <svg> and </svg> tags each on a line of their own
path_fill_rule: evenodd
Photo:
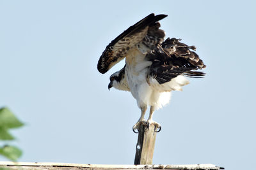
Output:
<svg viewBox="0 0 256 170">
<path fill-rule="evenodd" d="M 8 108 L 0 108 L 0 141 L 13 141 L 15 138 L 9 130 L 22 127 L 22 125 L 24 124 L 13 115 L 12 111 Z M 4 145 L 0 146 L 0 155 L 16 161 L 22 155 L 22 152 L 15 146 Z"/>
</svg>

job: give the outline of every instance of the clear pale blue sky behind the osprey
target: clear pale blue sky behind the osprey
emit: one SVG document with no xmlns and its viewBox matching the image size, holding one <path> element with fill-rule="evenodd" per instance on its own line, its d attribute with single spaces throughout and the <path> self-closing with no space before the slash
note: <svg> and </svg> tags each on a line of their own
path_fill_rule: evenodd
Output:
<svg viewBox="0 0 256 170">
<path fill-rule="evenodd" d="M 207 75 L 156 111 L 154 164 L 252 169 L 256 157 L 255 1 L 0 1 L 0 106 L 24 162 L 133 164 L 140 110 L 97 71 L 106 45 L 149 13 L 195 45 Z M 0 160 L 6 160 L 0 158 Z"/>
</svg>

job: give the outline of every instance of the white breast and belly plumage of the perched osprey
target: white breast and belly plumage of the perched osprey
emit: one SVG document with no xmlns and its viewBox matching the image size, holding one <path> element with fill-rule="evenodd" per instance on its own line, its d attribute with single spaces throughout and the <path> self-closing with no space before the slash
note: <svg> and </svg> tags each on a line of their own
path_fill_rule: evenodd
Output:
<svg viewBox="0 0 256 170">
<path fill-rule="evenodd" d="M 125 59 L 125 76 L 132 96 L 139 107 L 155 106 L 161 108 L 169 103 L 172 90 L 182 90 L 182 86 L 189 83 L 184 76 L 177 76 L 171 81 L 159 84 L 156 79 L 146 80 L 152 62 L 145 60 L 146 53 L 140 49 L 130 50 Z"/>
</svg>

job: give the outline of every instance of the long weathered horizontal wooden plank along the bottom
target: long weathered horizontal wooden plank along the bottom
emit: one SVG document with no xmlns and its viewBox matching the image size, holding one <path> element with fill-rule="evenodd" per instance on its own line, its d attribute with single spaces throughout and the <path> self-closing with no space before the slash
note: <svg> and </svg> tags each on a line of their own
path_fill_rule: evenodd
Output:
<svg viewBox="0 0 256 170">
<path fill-rule="evenodd" d="M 193 165 L 100 165 L 100 164 L 65 164 L 52 162 L 0 162 L 0 167 L 10 169 L 25 169 L 25 170 L 78 170 L 78 169 L 93 169 L 93 170 L 138 170 L 138 169 L 172 169 L 172 170 L 220 170 L 223 167 L 218 167 L 213 164 L 193 164 Z"/>
</svg>

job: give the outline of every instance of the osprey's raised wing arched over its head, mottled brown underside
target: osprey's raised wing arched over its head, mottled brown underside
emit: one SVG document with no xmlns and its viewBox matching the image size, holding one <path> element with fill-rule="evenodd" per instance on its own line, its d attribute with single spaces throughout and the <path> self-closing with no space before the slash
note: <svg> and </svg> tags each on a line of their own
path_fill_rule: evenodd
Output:
<svg viewBox="0 0 256 170">
<path fill-rule="evenodd" d="M 159 29 L 160 24 L 157 21 L 165 17 L 167 15 L 155 16 L 152 13 L 111 41 L 100 56 L 97 66 L 99 72 L 106 73 L 116 63 L 124 59 L 127 52 L 140 42 L 153 50 L 158 43 L 163 41 L 164 31 Z"/>
</svg>

